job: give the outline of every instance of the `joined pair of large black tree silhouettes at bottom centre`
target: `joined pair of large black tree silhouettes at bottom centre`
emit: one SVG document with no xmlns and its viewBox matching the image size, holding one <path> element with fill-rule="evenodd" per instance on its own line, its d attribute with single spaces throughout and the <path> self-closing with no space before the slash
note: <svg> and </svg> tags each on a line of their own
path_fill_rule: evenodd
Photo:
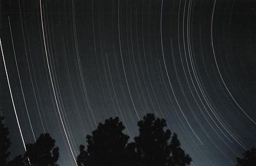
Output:
<svg viewBox="0 0 256 166">
<path fill-rule="evenodd" d="M 165 119 L 149 113 L 138 122 L 139 136 L 128 142 L 129 136 L 118 117 L 99 123 L 92 135 L 87 135 L 87 149 L 80 145 L 79 166 L 185 166 L 192 161 L 180 147 L 177 134 L 172 135 Z M 171 139 L 172 135 L 172 139 Z M 171 139 L 171 140 L 170 140 Z"/>
</svg>

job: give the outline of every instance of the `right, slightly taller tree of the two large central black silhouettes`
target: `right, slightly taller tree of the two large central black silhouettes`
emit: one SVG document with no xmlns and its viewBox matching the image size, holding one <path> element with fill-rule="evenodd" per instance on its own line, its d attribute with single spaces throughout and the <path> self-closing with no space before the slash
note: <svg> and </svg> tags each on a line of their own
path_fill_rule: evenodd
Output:
<svg viewBox="0 0 256 166">
<path fill-rule="evenodd" d="M 177 134 L 165 130 L 165 119 L 155 118 L 148 113 L 138 122 L 139 136 L 135 137 L 136 152 L 139 155 L 138 164 L 145 166 L 183 166 L 189 165 L 191 158 L 180 147 Z"/>
</svg>

